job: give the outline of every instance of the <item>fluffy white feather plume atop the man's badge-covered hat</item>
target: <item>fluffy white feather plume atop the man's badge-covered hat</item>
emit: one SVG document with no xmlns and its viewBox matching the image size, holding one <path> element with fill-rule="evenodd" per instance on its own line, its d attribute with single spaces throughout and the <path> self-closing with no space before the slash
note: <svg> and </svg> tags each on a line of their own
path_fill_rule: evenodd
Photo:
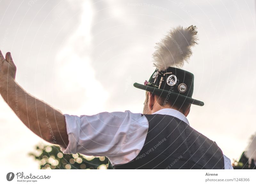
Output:
<svg viewBox="0 0 256 185">
<path fill-rule="evenodd" d="M 197 44 L 196 26 L 183 28 L 178 26 L 169 31 L 160 42 L 156 43 L 153 53 L 153 65 L 160 71 L 168 67 L 182 67 L 192 55 L 191 47 Z"/>
</svg>

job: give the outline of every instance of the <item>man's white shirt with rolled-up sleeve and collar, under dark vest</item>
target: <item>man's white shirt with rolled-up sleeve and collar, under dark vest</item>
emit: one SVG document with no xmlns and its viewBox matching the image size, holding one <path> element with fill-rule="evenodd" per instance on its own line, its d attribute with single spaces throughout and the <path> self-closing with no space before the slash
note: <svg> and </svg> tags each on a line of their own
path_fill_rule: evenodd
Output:
<svg viewBox="0 0 256 185">
<path fill-rule="evenodd" d="M 189 125 L 188 119 L 174 109 L 161 109 L 154 114 L 176 117 Z M 147 132 L 148 120 L 140 113 L 101 112 L 80 117 L 64 114 L 68 133 L 68 146 L 63 153 L 81 153 L 88 156 L 107 156 L 113 165 L 130 162 L 140 153 Z M 233 169 L 224 155 L 225 169 Z"/>
</svg>

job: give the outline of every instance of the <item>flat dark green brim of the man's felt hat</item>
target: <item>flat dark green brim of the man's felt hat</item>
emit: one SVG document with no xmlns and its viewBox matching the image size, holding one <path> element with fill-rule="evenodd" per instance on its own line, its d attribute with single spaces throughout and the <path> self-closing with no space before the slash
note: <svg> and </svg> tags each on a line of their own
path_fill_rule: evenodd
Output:
<svg viewBox="0 0 256 185">
<path fill-rule="evenodd" d="M 182 101 L 182 102 L 186 102 L 186 103 L 194 104 L 194 105 L 199 105 L 199 106 L 204 105 L 204 102 L 201 102 L 199 100 L 193 99 L 193 98 L 188 97 L 188 96 L 184 96 L 182 94 L 167 91 L 167 90 L 164 90 L 164 89 L 158 89 L 158 88 L 155 88 L 155 87 L 150 87 L 150 86 L 142 85 L 142 84 L 139 84 L 139 83 L 134 83 L 133 86 L 138 88 L 138 89 L 143 89 L 143 90 L 149 91 L 149 92 L 151 92 L 153 94 L 156 94 L 158 96 L 166 96 L 166 97 L 168 97 L 170 99 L 173 99 L 173 100 Z"/>
</svg>

